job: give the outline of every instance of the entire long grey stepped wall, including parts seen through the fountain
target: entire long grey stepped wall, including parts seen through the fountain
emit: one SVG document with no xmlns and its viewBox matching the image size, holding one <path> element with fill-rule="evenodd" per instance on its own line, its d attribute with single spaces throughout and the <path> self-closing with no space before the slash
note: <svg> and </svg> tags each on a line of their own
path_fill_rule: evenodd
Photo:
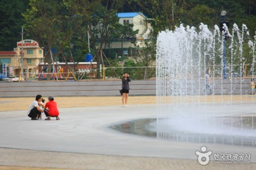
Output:
<svg viewBox="0 0 256 170">
<path fill-rule="evenodd" d="M 200 94 L 204 94 L 204 81 L 200 84 L 192 80 L 192 86 L 195 90 L 200 90 Z M 248 79 L 226 79 L 214 80 L 214 94 L 249 94 L 250 78 Z M 232 86 L 231 86 L 232 84 Z M 36 96 L 119 96 L 121 90 L 121 80 L 106 81 L 81 81 L 81 82 L 0 82 L 0 97 L 22 97 Z M 200 86 L 200 87 L 199 87 Z M 130 82 L 131 96 L 156 95 L 155 80 L 132 80 Z"/>
</svg>

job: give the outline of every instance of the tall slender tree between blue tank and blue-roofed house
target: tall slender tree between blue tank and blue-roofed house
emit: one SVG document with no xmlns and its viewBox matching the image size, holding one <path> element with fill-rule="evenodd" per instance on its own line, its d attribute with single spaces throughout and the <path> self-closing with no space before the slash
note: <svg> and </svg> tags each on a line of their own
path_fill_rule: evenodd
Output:
<svg viewBox="0 0 256 170">
<path fill-rule="evenodd" d="M 100 62 L 102 49 L 109 39 L 110 33 L 118 25 L 117 10 L 122 7 L 122 0 L 90 1 L 90 20 L 88 21 L 88 32 L 91 46 L 96 53 L 97 78 L 100 79 Z"/>
</svg>

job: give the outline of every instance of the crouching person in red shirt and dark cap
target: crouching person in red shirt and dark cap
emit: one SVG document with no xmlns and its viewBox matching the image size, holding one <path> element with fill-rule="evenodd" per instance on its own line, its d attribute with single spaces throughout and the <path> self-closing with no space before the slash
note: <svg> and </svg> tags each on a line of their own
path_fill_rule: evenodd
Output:
<svg viewBox="0 0 256 170">
<path fill-rule="evenodd" d="M 45 120 L 51 120 L 51 117 L 56 117 L 56 120 L 60 120 L 59 118 L 59 110 L 57 109 L 57 103 L 53 101 L 54 98 L 53 96 L 48 97 L 48 102 L 44 106 L 44 113 L 46 114 L 46 119 Z"/>
</svg>

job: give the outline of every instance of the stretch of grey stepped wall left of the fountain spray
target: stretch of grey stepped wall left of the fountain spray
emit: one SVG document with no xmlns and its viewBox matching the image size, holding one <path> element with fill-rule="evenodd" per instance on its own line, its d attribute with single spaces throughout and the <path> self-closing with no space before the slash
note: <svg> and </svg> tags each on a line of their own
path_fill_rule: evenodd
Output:
<svg viewBox="0 0 256 170">
<path fill-rule="evenodd" d="M 0 82 L 0 97 L 15 96 L 120 96 L 121 80 L 81 82 Z M 133 80 L 130 95 L 155 95 L 155 80 Z"/>
</svg>

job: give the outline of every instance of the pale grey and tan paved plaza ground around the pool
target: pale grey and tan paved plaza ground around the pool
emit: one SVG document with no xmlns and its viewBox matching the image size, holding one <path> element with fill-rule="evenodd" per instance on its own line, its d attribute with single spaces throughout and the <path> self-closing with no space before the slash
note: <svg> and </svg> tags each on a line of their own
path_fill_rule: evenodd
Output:
<svg viewBox="0 0 256 170">
<path fill-rule="evenodd" d="M 202 101 L 240 101 L 243 111 L 254 96 L 203 96 Z M 31 121 L 32 98 L 0 99 L 0 169 L 255 169 L 256 148 L 207 143 L 214 153 L 251 153 L 250 164 L 197 162 L 203 143 L 168 141 L 120 133 L 109 126 L 156 116 L 155 97 L 55 97 L 60 121 Z M 255 104 L 254 104 L 255 105 Z"/>
</svg>

